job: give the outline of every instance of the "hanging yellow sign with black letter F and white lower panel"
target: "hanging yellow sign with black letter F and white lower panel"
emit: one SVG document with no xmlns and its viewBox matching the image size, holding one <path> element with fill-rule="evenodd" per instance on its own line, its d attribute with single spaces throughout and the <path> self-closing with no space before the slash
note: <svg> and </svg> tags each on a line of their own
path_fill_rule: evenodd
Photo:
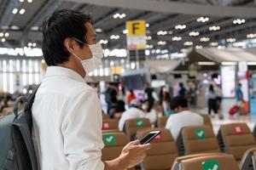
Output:
<svg viewBox="0 0 256 170">
<path fill-rule="evenodd" d="M 127 33 L 127 48 L 145 49 L 146 41 L 146 21 L 145 20 L 129 20 L 126 22 Z"/>
</svg>

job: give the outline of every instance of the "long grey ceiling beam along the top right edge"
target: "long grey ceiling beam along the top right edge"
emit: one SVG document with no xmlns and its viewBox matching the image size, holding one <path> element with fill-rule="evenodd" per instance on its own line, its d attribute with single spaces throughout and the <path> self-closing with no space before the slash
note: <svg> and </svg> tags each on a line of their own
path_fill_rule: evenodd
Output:
<svg viewBox="0 0 256 170">
<path fill-rule="evenodd" d="M 219 17 L 247 17 L 256 15 L 255 8 L 247 7 L 222 7 L 206 4 L 161 2 L 149 0 L 66 0 L 77 3 L 90 3 L 94 5 L 108 6 L 112 8 L 131 8 L 167 14 L 201 14 Z"/>
</svg>

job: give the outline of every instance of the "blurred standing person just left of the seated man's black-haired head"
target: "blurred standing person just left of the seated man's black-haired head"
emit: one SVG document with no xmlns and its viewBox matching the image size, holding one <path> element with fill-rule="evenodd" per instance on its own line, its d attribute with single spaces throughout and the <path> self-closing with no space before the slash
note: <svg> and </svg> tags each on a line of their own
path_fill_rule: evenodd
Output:
<svg viewBox="0 0 256 170">
<path fill-rule="evenodd" d="M 167 91 L 167 88 L 165 86 L 162 86 L 160 88 L 160 105 L 163 108 L 164 115 L 169 116 L 170 115 L 170 94 Z"/>
</svg>

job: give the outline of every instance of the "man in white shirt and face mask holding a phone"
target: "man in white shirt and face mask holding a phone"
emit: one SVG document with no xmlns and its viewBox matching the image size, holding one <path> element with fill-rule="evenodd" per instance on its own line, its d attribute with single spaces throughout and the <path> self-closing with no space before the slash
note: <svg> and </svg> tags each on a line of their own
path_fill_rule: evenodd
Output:
<svg viewBox="0 0 256 170">
<path fill-rule="evenodd" d="M 150 144 L 133 141 L 120 156 L 103 162 L 102 110 L 84 82 L 102 62 L 102 47 L 90 15 L 55 11 L 43 25 L 49 67 L 32 106 L 32 139 L 40 170 L 122 170 L 143 161 Z"/>
</svg>

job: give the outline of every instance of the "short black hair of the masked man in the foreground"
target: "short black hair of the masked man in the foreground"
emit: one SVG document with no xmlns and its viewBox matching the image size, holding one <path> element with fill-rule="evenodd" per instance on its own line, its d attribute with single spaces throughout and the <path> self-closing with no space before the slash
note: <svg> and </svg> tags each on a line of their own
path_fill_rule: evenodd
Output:
<svg viewBox="0 0 256 170">
<path fill-rule="evenodd" d="M 58 65 L 68 61 L 69 52 L 64 46 L 67 37 L 76 38 L 87 43 L 86 22 L 91 23 L 90 14 L 79 13 L 69 9 L 56 10 L 48 20 L 45 20 L 43 29 L 42 50 L 47 65 Z M 78 42 L 82 48 L 83 43 Z"/>
</svg>

